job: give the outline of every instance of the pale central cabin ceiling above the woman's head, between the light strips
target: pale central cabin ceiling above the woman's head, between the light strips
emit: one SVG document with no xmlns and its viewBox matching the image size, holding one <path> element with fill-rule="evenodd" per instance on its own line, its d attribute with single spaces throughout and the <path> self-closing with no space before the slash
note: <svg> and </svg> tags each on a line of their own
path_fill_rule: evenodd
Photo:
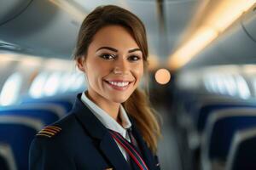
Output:
<svg viewBox="0 0 256 170">
<path fill-rule="evenodd" d="M 91 11 L 99 5 L 114 4 L 131 10 L 143 20 L 148 33 L 149 54 L 165 62 L 189 26 L 201 0 L 73 0 Z"/>
</svg>

